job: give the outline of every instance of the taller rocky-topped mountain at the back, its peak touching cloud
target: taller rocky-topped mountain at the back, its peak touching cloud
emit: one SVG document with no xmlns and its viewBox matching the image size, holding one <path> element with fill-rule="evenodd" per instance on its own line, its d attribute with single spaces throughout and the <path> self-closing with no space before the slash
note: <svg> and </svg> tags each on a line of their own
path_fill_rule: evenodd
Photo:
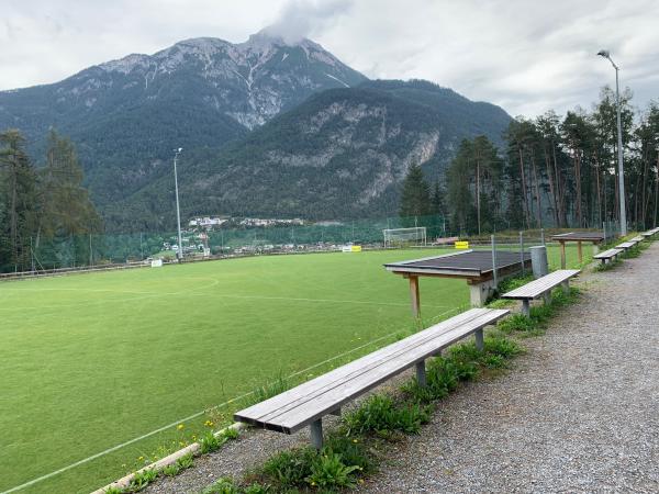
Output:
<svg viewBox="0 0 659 494">
<path fill-rule="evenodd" d="M 168 172 L 174 147 L 220 147 L 315 92 L 365 80 L 309 40 L 202 37 L 1 91 L 0 128 L 20 128 L 35 157 L 51 126 L 70 136 L 103 210 Z"/>
</svg>

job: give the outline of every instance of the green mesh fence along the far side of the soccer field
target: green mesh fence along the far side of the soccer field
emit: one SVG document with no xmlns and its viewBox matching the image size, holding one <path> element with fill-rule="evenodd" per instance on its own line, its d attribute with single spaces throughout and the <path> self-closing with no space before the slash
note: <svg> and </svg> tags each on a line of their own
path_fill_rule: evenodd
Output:
<svg viewBox="0 0 659 494">
<path fill-rule="evenodd" d="M 618 226 L 602 225 L 606 237 L 615 236 Z M 398 233 L 401 233 L 400 235 Z M 417 235 L 410 235 L 410 232 Z M 559 229 L 533 229 L 523 233 L 495 233 L 500 249 L 524 247 L 548 240 Z M 565 232 L 565 229 L 562 229 Z M 30 265 L 15 271 L 82 269 L 90 266 L 116 266 L 155 258 L 183 260 L 263 254 L 292 254 L 342 250 L 349 245 L 365 249 L 396 247 L 454 246 L 469 240 L 470 248 L 488 248 L 491 234 L 459 235 L 445 217 L 414 216 L 349 221 L 304 222 L 301 220 L 197 218 L 181 232 L 133 234 L 87 234 L 54 238 L 32 238 Z M 388 238 L 388 242 L 386 242 Z"/>
</svg>

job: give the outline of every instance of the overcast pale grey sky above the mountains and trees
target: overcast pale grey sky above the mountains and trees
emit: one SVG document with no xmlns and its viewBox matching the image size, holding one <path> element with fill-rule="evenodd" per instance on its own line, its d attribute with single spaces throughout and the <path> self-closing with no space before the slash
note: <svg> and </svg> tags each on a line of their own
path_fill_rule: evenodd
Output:
<svg viewBox="0 0 659 494">
<path fill-rule="evenodd" d="M 0 0 L 0 90 L 55 82 L 199 36 L 271 25 L 370 78 L 423 78 L 513 115 L 590 109 L 614 83 L 659 98 L 655 0 Z"/>
</svg>

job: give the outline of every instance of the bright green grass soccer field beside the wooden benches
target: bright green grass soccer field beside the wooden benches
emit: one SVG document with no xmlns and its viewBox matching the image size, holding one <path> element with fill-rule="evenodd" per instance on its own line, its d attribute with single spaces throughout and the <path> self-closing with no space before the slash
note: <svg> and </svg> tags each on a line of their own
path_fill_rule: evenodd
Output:
<svg viewBox="0 0 659 494">
<path fill-rule="evenodd" d="M 382 263 L 442 252 L 264 256 L 1 283 L 0 492 L 58 471 L 20 492 L 89 492 L 160 445 L 191 440 L 208 419 L 186 417 L 409 334 L 407 283 Z M 425 325 L 468 304 L 463 280 L 421 285 Z"/>
</svg>

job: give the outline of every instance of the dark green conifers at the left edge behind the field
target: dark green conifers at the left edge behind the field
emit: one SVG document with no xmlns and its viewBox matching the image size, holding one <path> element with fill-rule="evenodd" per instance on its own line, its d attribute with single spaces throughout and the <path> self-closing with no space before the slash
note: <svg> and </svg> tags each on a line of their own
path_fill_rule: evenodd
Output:
<svg viewBox="0 0 659 494">
<path fill-rule="evenodd" d="M 19 131 L 0 132 L 0 272 L 70 266 L 71 256 L 87 263 L 81 235 L 102 231 L 102 222 L 82 187 L 76 148 L 51 131 L 37 168 L 25 146 Z"/>
</svg>

